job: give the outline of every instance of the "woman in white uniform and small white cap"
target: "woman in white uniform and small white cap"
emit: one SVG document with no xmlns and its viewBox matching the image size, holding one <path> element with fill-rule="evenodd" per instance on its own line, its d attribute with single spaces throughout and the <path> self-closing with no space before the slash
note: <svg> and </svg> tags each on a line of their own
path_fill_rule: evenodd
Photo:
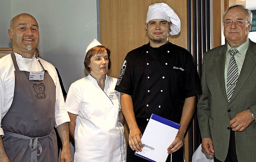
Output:
<svg viewBox="0 0 256 162">
<path fill-rule="evenodd" d="M 94 39 L 86 49 L 89 75 L 72 83 L 66 107 L 70 134 L 75 140 L 75 162 L 125 162 L 126 142 L 116 78 L 110 69 L 110 49 Z"/>
</svg>

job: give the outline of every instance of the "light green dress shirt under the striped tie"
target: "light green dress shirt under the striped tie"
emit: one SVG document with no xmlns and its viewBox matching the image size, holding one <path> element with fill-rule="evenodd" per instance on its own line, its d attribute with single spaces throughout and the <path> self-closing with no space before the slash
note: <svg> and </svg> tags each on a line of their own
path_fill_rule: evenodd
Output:
<svg viewBox="0 0 256 162">
<path fill-rule="evenodd" d="M 246 51 L 248 49 L 249 46 L 249 39 L 247 39 L 243 44 L 241 44 L 240 46 L 238 46 L 236 49 L 238 50 L 238 53 L 236 53 L 234 55 L 235 60 L 236 60 L 236 64 L 238 67 L 238 77 L 240 75 L 243 63 L 244 63 L 244 58 L 246 55 Z M 225 61 L 225 71 L 224 71 L 224 79 L 225 79 L 225 87 L 226 87 L 226 91 L 227 91 L 227 73 L 228 73 L 228 63 L 230 60 L 230 53 L 228 52 L 231 49 L 230 45 L 227 45 L 227 51 L 226 51 L 226 61 Z"/>
</svg>

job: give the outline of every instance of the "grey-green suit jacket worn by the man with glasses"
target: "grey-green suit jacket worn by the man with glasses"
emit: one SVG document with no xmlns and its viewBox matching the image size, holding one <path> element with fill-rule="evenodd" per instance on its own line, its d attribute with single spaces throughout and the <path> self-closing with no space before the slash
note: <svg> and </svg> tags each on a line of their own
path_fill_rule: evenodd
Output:
<svg viewBox="0 0 256 162">
<path fill-rule="evenodd" d="M 227 44 L 216 47 L 203 56 L 202 95 L 198 101 L 198 122 L 202 138 L 213 141 L 215 156 L 224 161 L 228 154 L 229 122 L 248 107 L 256 115 L 256 43 L 250 41 L 238 82 L 228 103 L 224 81 Z M 256 162 L 255 121 L 236 134 L 239 162 Z"/>
</svg>

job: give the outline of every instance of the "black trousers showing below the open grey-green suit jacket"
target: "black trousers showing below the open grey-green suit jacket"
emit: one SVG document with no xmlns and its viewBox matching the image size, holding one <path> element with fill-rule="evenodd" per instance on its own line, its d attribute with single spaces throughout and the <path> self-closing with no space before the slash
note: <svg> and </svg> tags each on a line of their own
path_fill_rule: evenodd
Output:
<svg viewBox="0 0 256 162">
<path fill-rule="evenodd" d="M 214 162 L 222 162 L 214 156 Z M 230 139 L 228 145 L 228 154 L 224 162 L 238 162 L 236 156 L 236 136 L 235 132 L 230 130 Z"/>
</svg>

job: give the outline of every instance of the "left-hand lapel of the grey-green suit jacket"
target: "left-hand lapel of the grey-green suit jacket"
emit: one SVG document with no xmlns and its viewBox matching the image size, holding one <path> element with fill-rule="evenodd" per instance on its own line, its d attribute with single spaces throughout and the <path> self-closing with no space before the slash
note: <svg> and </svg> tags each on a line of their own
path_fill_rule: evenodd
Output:
<svg viewBox="0 0 256 162">
<path fill-rule="evenodd" d="M 222 90 L 223 95 L 226 97 L 226 100 L 228 101 L 227 94 L 226 94 L 226 87 L 225 87 L 225 78 L 224 78 L 226 51 L 227 51 L 227 45 L 223 45 L 223 47 L 218 52 L 219 56 L 215 58 L 215 65 L 216 65 L 218 80 L 220 83 L 220 88 Z"/>
</svg>

